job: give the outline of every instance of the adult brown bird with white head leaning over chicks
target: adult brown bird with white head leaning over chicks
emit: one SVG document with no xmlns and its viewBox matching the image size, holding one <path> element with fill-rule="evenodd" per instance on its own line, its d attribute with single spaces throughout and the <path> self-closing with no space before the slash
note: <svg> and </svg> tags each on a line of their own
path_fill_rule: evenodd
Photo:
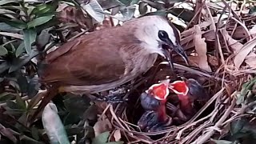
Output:
<svg viewBox="0 0 256 144">
<path fill-rule="evenodd" d="M 130 82 L 154 65 L 158 54 L 172 66 L 170 50 L 187 62 L 178 30 L 167 18 L 150 15 L 84 34 L 50 52 L 38 70 L 50 92 L 42 109 L 58 92 L 94 94 Z"/>
</svg>

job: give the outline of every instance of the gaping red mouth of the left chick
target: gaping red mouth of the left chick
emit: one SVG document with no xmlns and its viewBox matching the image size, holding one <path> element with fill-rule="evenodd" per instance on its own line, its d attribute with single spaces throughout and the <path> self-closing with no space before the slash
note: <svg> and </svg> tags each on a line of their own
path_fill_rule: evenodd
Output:
<svg viewBox="0 0 256 144">
<path fill-rule="evenodd" d="M 146 93 L 152 95 L 154 98 L 158 99 L 159 101 L 166 101 L 166 98 L 170 93 L 168 89 L 169 82 L 170 82 L 170 79 L 166 79 L 161 83 L 154 84 L 150 86 L 148 90 L 146 90 Z"/>
</svg>

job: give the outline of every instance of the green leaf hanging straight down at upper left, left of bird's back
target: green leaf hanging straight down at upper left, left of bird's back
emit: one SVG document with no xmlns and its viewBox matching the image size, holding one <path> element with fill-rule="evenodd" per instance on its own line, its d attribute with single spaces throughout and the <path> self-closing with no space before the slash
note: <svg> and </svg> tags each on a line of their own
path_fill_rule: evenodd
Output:
<svg viewBox="0 0 256 144">
<path fill-rule="evenodd" d="M 35 42 L 37 33 L 34 29 L 23 30 L 23 33 L 24 33 L 24 45 L 25 45 L 26 53 L 30 54 L 32 50 L 31 45 L 33 42 Z"/>
</svg>

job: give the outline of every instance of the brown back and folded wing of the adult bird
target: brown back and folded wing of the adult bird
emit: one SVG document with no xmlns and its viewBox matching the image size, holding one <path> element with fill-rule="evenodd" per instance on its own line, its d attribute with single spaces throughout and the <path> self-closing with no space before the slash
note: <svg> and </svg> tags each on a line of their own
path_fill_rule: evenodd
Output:
<svg viewBox="0 0 256 144">
<path fill-rule="evenodd" d="M 117 33 L 117 29 L 83 35 L 48 54 L 44 61 L 46 66 L 41 70 L 41 81 L 61 85 L 97 85 L 122 78 L 126 65 L 119 49 L 130 42 Z M 119 41 L 115 42 L 115 38 Z"/>
</svg>

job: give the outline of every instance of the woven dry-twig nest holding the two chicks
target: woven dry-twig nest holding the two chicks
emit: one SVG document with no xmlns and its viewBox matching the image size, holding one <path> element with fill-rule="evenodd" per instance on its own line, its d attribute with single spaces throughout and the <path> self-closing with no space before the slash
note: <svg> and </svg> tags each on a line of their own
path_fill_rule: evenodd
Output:
<svg viewBox="0 0 256 144">
<path fill-rule="evenodd" d="M 218 83 L 220 84 L 220 83 Z M 213 90 L 212 87 L 215 87 Z M 135 91 L 126 95 L 127 104 L 110 105 L 111 123 L 114 128 L 122 131 L 125 142 L 129 143 L 204 143 L 213 136 L 218 139 L 227 133 L 223 132 L 226 126 L 245 113 L 245 107 L 236 104 L 237 98 L 229 94 L 227 86 L 222 87 L 213 82 L 205 86 L 211 98 L 204 103 L 194 117 L 178 126 L 168 126 L 165 130 L 157 132 L 142 132 L 137 126 L 142 116 L 139 95 Z M 171 97 L 171 96 L 170 96 Z M 170 110 L 172 102 L 168 101 L 166 110 Z"/>
</svg>

